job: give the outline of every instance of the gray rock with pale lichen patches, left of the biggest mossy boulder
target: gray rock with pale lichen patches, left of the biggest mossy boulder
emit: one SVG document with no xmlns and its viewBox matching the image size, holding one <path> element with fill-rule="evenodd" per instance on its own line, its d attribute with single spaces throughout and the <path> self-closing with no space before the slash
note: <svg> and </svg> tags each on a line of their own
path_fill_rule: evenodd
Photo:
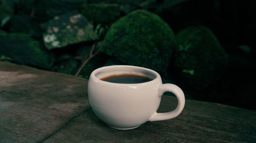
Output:
<svg viewBox="0 0 256 143">
<path fill-rule="evenodd" d="M 41 27 L 44 30 L 44 43 L 48 49 L 98 39 L 93 25 L 81 14 L 55 16 L 54 19 L 42 24 Z"/>
</svg>

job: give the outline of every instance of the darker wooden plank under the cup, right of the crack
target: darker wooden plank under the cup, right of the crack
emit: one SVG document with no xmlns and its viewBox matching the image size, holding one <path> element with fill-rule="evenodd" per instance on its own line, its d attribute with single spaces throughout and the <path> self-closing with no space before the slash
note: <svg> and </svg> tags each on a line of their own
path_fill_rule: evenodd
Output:
<svg viewBox="0 0 256 143">
<path fill-rule="evenodd" d="M 177 99 L 163 96 L 159 111 L 169 111 Z M 133 130 L 116 130 L 92 110 L 82 113 L 45 142 L 255 142 L 256 111 L 186 100 L 180 116 L 147 122 Z"/>
</svg>

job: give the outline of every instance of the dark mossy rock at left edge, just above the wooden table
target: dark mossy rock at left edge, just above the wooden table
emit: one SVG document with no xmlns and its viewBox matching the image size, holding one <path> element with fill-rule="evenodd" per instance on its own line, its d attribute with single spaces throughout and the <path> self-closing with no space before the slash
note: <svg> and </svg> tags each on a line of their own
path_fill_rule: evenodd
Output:
<svg viewBox="0 0 256 143">
<path fill-rule="evenodd" d="M 0 32 L 0 55 L 8 56 L 11 62 L 50 69 L 53 55 L 40 48 L 38 41 L 23 33 Z"/>
</svg>

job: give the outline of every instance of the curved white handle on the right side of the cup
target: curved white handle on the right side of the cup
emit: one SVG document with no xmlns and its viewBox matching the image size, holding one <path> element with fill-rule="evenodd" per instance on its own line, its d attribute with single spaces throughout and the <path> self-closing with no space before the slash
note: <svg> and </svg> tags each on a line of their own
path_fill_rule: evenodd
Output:
<svg viewBox="0 0 256 143">
<path fill-rule="evenodd" d="M 163 93 L 165 92 L 174 93 L 174 95 L 178 99 L 178 105 L 173 111 L 164 112 L 164 113 L 155 112 L 149 121 L 162 121 L 162 120 L 168 120 L 168 119 L 177 117 L 181 113 L 185 105 L 185 97 L 182 90 L 175 84 L 167 83 L 167 84 L 159 85 L 158 91 L 160 96 L 162 96 Z"/>
</svg>

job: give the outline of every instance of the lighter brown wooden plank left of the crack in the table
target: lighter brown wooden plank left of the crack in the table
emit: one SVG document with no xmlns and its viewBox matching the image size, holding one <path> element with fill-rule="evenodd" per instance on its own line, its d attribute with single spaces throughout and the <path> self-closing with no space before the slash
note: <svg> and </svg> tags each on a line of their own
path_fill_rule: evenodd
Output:
<svg viewBox="0 0 256 143">
<path fill-rule="evenodd" d="M 0 62 L 0 142 L 37 142 L 90 108 L 87 81 Z"/>
</svg>

